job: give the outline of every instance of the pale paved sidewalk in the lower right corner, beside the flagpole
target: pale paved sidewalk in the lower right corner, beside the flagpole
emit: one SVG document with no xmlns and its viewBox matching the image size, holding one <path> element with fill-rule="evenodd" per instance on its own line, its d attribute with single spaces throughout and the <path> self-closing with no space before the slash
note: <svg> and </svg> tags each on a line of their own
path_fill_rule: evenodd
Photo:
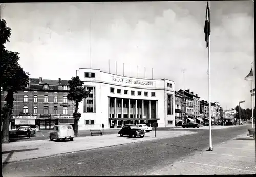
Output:
<svg viewBox="0 0 256 177">
<path fill-rule="evenodd" d="M 148 175 L 255 174 L 255 140 L 240 135 L 213 145 L 213 151 L 196 152 Z"/>
</svg>

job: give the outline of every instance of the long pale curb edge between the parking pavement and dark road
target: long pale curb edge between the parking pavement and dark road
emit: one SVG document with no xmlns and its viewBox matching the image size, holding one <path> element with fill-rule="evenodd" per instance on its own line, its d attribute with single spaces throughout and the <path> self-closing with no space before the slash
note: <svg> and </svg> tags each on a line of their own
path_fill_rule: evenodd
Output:
<svg viewBox="0 0 256 177">
<path fill-rule="evenodd" d="M 193 133 L 193 134 L 196 134 L 196 132 Z M 35 158 L 15 160 L 15 161 L 10 161 L 10 162 L 2 162 L 2 164 L 9 164 L 9 163 L 14 163 L 14 162 L 22 162 L 22 161 L 33 160 L 33 159 L 40 159 L 40 158 L 48 158 L 48 157 L 54 157 L 54 156 L 59 156 L 59 155 L 64 155 L 64 154 L 71 154 L 71 153 L 77 153 L 77 152 L 83 152 L 83 151 L 88 151 L 88 150 L 102 149 L 102 148 L 108 148 L 108 147 L 114 147 L 114 146 L 121 146 L 121 145 L 125 145 L 125 144 L 140 143 L 140 142 L 145 142 L 145 141 L 155 141 L 155 140 L 160 140 L 160 139 L 165 139 L 165 138 L 167 139 L 167 138 L 182 137 L 182 136 L 186 136 L 186 134 L 178 135 L 178 136 L 173 136 L 173 137 L 162 137 L 162 138 L 157 138 L 156 137 L 156 139 L 154 139 L 154 140 L 142 140 L 142 141 L 135 141 L 135 142 L 130 142 L 130 143 L 122 143 L 122 144 L 117 144 L 117 145 L 109 145 L 109 146 L 103 146 L 103 147 L 96 147 L 96 148 L 91 148 L 91 149 L 76 150 L 76 151 L 72 151 L 72 152 L 63 152 L 63 153 L 57 153 L 57 154 L 41 156 L 41 157 L 35 157 Z"/>
</svg>

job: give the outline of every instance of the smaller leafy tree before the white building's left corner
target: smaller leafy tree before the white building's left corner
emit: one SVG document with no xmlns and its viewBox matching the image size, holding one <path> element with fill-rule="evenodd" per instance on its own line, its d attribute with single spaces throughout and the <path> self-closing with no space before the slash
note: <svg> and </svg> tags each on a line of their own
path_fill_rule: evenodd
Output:
<svg viewBox="0 0 256 177">
<path fill-rule="evenodd" d="M 74 131 L 75 136 L 78 135 L 78 121 L 81 117 L 81 113 L 78 113 L 78 105 L 80 102 L 82 102 L 83 99 L 87 98 L 90 94 L 89 91 L 86 91 L 86 89 L 83 87 L 83 82 L 79 79 L 79 76 L 72 77 L 71 80 L 68 81 L 69 83 L 69 94 L 68 94 L 68 100 L 74 101 L 76 108 L 75 112 L 73 113 L 74 120 Z"/>
</svg>

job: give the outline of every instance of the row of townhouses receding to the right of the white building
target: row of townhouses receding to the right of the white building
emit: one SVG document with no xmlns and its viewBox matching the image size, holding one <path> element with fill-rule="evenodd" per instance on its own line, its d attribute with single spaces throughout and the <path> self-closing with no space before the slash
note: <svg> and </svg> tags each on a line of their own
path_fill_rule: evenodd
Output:
<svg viewBox="0 0 256 177">
<path fill-rule="evenodd" d="M 211 102 L 211 121 L 219 122 L 223 118 L 223 109 L 219 102 Z M 180 125 L 187 122 L 202 124 L 209 121 L 209 103 L 200 100 L 198 94 L 187 90 L 175 91 L 175 123 Z"/>
</svg>

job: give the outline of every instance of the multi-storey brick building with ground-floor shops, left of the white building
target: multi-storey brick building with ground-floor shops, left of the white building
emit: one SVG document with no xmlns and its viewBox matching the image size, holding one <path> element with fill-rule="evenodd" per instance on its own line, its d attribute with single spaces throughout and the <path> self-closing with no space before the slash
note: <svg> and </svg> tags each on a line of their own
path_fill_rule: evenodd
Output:
<svg viewBox="0 0 256 177">
<path fill-rule="evenodd" d="M 68 100 L 68 81 L 31 78 L 25 89 L 14 93 L 10 129 L 30 126 L 50 130 L 56 124 L 74 124 L 74 104 Z M 2 106 L 7 93 L 1 93 Z"/>
</svg>

